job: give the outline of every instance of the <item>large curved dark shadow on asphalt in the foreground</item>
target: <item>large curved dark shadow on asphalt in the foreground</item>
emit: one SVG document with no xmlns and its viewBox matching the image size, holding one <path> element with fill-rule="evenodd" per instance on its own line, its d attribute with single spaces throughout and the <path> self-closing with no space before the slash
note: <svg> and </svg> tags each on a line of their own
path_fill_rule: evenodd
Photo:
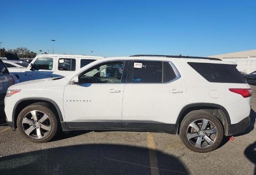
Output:
<svg viewBox="0 0 256 175">
<path fill-rule="evenodd" d="M 178 158 L 156 150 L 157 167 L 150 167 L 147 148 L 90 144 L 38 150 L 0 157 L 0 174 L 106 174 L 161 175 L 190 174 Z"/>
</svg>

